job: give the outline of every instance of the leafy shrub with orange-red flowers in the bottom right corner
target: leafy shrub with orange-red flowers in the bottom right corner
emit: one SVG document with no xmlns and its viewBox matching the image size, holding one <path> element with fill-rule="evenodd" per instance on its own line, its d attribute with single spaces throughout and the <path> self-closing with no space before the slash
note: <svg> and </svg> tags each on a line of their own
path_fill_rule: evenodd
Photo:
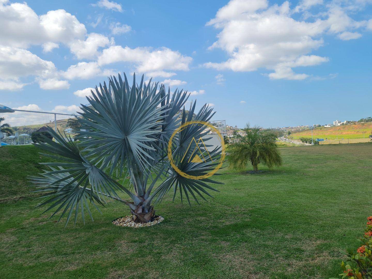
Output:
<svg viewBox="0 0 372 279">
<path fill-rule="evenodd" d="M 350 264 L 341 263 L 343 273 L 341 278 L 347 279 L 371 279 L 372 278 L 372 216 L 368 217 L 367 226 L 364 236 L 360 238 L 362 245 L 357 248 L 356 253 L 341 253 L 346 254 Z M 355 266 L 352 268 L 352 266 Z M 336 279 L 336 278 L 331 278 Z"/>
</svg>

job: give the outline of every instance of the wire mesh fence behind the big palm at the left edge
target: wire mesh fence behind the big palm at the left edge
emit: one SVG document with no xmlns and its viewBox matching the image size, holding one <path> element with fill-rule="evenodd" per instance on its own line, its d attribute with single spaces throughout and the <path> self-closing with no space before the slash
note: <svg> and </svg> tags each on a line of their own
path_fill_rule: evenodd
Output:
<svg viewBox="0 0 372 279">
<path fill-rule="evenodd" d="M 41 140 L 41 134 L 51 136 L 47 127 L 62 134 L 73 136 L 79 127 L 77 115 L 29 110 L 0 111 L 0 131 L 3 133 L 1 145 L 31 144 Z M 49 136 L 48 136 L 49 135 Z"/>
</svg>

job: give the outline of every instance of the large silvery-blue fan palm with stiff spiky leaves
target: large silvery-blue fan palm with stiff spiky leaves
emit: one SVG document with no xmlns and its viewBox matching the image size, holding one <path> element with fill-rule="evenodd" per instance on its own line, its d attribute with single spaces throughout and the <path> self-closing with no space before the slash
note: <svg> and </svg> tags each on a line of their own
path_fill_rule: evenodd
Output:
<svg viewBox="0 0 372 279">
<path fill-rule="evenodd" d="M 67 216 L 67 225 L 71 217 L 76 223 L 81 214 L 84 221 L 85 212 L 92 218 L 92 205 L 98 209 L 97 205 L 105 205 L 110 198 L 129 206 L 135 222 L 145 223 L 153 221 L 154 205 L 170 190 L 173 200 L 178 191 L 181 202 L 186 198 L 189 204 L 190 199 L 199 203 L 199 198 L 211 196 L 208 191 L 217 191 L 207 183 L 219 182 L 185 178 L 167 158 L 168 142 L 177 127 L 191 120 L 209 121 L 213 109 L 203 105 L 194 113 L 196 103 L 191 102 L 186 117 L 186 91 L 171 94 L 163 84 L 151 85 L 151 80 L 146 84 L 143 78 L 138 85 L 134 76 L 129 86 L 124 73 L 124 80 L 120 75 L 118 79 L 109 77 L 108 86 L 96 87 L 87 97 L 90 106 L 81 105 L 79 141 L 49 129 L 55 141 L 45 138 L 45 143 L 37 144 L 48 152 L 45 156 L 60 161 L 43 163 L 49 170 L 31 177 L 38 187 L 36 192 L 47 192 L 42 197 L 46 200 L 38 206 L 49 205 L 45 211 L 53 210 L 51 217 L 61 212 L 58 221 Z M 179 170 L 200 176 L 214 169 L 221 148 L 209 152 L 211 157 L 205 161 L 182 161 L 185 152 L 194 150 L 187 148 L 192 139 L 207 133 L 203 125 L 188 125 L 176 135 L 171 148 Z M 129 177 L 128 183 L 122 182 L 125 177 Z M 119 196 L 121 192 L 128 198 Z"/>
</svg>

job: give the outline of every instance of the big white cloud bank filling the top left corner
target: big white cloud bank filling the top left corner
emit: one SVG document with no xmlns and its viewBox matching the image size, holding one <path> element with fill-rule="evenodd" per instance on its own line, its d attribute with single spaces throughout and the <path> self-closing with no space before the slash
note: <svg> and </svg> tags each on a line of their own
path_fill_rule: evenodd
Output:
<svg viewBox="0 0 372 279">
<path fill-rule="evenodd" d="M 110 43 L 103 35 L 87 34 L 84 24 L 65 10 L 38 16 L 25 2 L 0 1 L 0 25 L 0 90 L 22 89 L 25 83 L 20 78 L 27 76 L 34 76 L 41 89 L 69 88 L 68 81 L 60 80 L 53 62 L 26 49 L 31 45 L 51 52 L 64 44 L 78 59 L 83 59 L 97 56 L 97 49 Z"/>
</svg>

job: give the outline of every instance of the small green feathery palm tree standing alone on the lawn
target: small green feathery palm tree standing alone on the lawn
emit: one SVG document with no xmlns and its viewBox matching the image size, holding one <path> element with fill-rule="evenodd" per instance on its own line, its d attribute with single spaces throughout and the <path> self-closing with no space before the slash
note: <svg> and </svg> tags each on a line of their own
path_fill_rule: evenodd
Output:
<svg viewBox="0 0 372 279">
<path fill-rule="evenodd" d="M 269 168 L 282 165 L 275 132 L 263 131 L 259 126 L 250 127 L 249 123 L 243 131 L 245 135 L 236 133 L 235 140 L 227 149 L 232 169 L 244 169 L 248 163 L 252 164 L 254 171 L 258 171 L 260 163 Z"/>
</svg>

